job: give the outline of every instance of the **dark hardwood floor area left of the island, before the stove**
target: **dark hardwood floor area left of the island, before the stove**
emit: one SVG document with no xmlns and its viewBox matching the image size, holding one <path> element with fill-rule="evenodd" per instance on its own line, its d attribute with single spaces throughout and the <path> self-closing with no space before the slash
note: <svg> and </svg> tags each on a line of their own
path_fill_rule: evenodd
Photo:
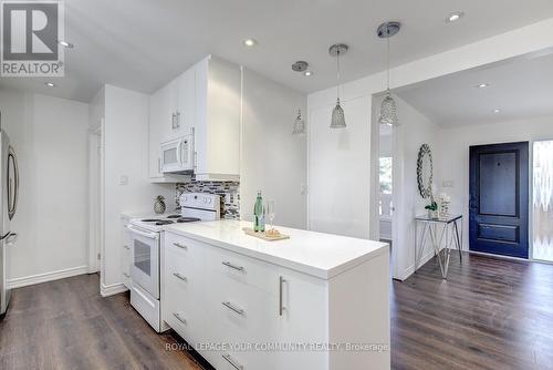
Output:
<svg viewBox="0 0 553 370">
<path fill-rule="evenodd" d="M 102 298 L 98 276 L 15 289 L 0 321 L 0 369 L 201 369 L 166 350 L 178 338 L 157 335 L 128 294 Z"/>
</svg>

